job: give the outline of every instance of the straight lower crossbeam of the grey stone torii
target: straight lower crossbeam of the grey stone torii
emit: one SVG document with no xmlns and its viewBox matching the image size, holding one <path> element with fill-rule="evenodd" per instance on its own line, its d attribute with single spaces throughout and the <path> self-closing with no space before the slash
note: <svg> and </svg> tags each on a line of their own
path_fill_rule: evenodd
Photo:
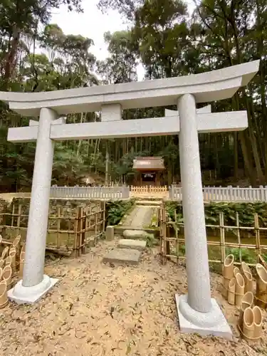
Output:
<svg viewBox="0 0 267 356">
<path fill-rule="evenodd" d="M 36 122 L 38 124 L 38 122 Z M 204 132 L 229 132 L 248 127 L 246 111 L 229 111 L 197 114 L 197 130 Z M 82 124 L 51 125 L 50 138 L 55 141 L 88 140 L 122 137 L 177 135 L 180 131 L 179 115 L 139 120 L 88 122 Z M 38 125 L 9 128 L 10 142 L 36 141 Z"/>
</svg>

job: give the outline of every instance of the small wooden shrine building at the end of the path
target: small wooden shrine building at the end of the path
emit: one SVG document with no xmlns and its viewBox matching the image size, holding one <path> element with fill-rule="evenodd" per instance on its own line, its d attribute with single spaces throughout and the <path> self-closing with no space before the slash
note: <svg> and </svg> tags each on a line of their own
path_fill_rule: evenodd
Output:
<svg viewBox="0 0 267 356">
<path fill-rule="evenodd" d="M 162 185 L 162 173 L 165 169 L 162 157 L 135 157 L 132 169 L 135 172 L 135 185 Z"/>
</svg>

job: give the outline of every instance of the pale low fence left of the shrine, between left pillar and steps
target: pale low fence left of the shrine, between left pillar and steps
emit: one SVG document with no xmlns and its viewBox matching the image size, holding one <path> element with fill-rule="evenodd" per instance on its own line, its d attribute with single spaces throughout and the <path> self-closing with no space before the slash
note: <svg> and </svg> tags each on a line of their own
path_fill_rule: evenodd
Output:
<svg viewBox="0 0 267 356">
<path fill-rule="evenodd" d="M 51 187 L 52 198 L 75 199 L 127 199 L 130 189 L 121 187 Z"/>
</svg>

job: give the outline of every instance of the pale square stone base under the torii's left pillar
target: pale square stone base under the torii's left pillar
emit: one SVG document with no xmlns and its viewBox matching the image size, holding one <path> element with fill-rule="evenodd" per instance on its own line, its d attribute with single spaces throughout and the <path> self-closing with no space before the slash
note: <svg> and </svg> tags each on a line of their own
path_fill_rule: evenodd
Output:
<svg viewBox="0 0 267 356">
<path fill-rule="evenodd" d="M 58 279 L 44 275 L 41 283 L 36 286 L 24 287 L 21 279 L 14 288 L 8 291 L 7 295 L 11 301 L 17 304 L 33 304 L 41 299 L 57 282 Z"/>
</svg>

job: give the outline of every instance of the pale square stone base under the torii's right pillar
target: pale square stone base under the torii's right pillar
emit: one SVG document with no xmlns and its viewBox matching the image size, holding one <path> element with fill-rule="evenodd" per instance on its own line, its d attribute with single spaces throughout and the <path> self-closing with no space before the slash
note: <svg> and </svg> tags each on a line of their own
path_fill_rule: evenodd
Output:
<svg viewBox="0 0 267 356">
<path fill-rule="evenodd" d="M 209 313 L 200 313 L 192 309 L 187 303 L 187 295 L 175 294 L 175 300 L 181 333 L 233 339 L 231 328 L 214 298 L 211 299 L 212 308 Z"/>
</svg>

